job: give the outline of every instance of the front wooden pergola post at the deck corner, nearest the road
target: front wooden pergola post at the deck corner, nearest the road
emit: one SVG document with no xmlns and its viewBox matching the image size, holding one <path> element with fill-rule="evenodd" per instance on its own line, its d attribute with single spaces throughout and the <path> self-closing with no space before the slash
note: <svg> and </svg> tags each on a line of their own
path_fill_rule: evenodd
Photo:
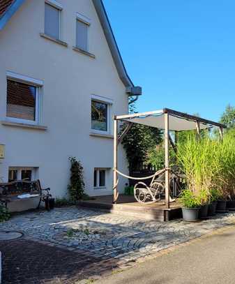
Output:
<svg viewBox="0 0 235 284">
<path fill-rule="evenodd" d="M 169 209 L 169 114 L 165 112 L 165 203 Z"/>
</svg>

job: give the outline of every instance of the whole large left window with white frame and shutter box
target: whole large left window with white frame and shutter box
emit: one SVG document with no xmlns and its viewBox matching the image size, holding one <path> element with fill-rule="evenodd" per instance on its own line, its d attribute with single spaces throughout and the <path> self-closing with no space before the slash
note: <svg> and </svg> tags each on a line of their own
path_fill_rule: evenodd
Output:
<svg viewBox="0 0 235 284">
<path fill-rule="evenodd" d="M 6 117 L 11 121 L 38 123 L 42 82 L 7 73 Z"/>
</svg>

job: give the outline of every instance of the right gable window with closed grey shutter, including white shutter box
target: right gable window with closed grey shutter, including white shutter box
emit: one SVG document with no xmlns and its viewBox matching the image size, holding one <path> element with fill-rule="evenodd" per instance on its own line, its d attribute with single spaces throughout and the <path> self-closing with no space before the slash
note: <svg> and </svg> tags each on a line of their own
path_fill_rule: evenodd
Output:
<svg viewBox="0 0 235 284">
<path fill-rule="evenodd" d="M 76 27 L 76 47 L 86 52 L 89 51 L 89 26 L 88 18 L 77 13 L 77 27 Z"/>
</svg>

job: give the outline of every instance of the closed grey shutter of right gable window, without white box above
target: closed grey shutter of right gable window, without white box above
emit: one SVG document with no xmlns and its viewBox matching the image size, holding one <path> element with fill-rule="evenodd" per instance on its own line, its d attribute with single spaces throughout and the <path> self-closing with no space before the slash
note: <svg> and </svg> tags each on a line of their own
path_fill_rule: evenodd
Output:
<svg viewBox="0 0 235 284">
<path fill-rule="evenodd" d="M 89 24 L 77 19 L 76 47 L 88 52 Z"/>
</svg>

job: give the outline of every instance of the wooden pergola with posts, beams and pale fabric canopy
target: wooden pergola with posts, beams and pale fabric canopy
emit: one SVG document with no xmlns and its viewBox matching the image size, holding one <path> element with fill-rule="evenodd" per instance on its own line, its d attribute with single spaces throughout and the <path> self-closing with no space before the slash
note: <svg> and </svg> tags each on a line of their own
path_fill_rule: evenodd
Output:
<svg viewBox="0 0 235 284">
<path fill-rule="evenodd" d="M 119 121 L 127 123 L 126 128 L 123 130 L 121 135 L 118 134 Z M 195 117 L 190 114 L 183 112 L 177 112 L 176 110 L 170 110 L 164 108 L 162 110 L 156 110 L 153 112 L 142 112 L 135 114 L 124 114 L 114 116 L 114 197 L 113 202 L 116 203 L 119 197 L 118 190 L 118 174 L 121 174 L 118 170 L 118 145 L 123 140 L 123 137 L 128 133 L 128 130 L 133 124 L 142 124 L 145 126 L 151 126 L 165 130 L 165 206 L 169 209 L 169 179 L 170 179 L 170 168 L 169 168 L 169 143 L 176 149 L 176 144 L 173 142 L 169 131 L 175 133 L 185 130 L 196 130 L 199 135 L 201 129 L 209 129 L 217 127 L 220 132 L 220 139 L 222 140 L 223 129 L 225 125 L 219 124 L 215 121 L 203 119 L 201 117 Z M 175 135 L 177 137 L 177 135 Z M 126 174 L 121 174 L 123 177 L 128 177 Z"/>
</svg>

